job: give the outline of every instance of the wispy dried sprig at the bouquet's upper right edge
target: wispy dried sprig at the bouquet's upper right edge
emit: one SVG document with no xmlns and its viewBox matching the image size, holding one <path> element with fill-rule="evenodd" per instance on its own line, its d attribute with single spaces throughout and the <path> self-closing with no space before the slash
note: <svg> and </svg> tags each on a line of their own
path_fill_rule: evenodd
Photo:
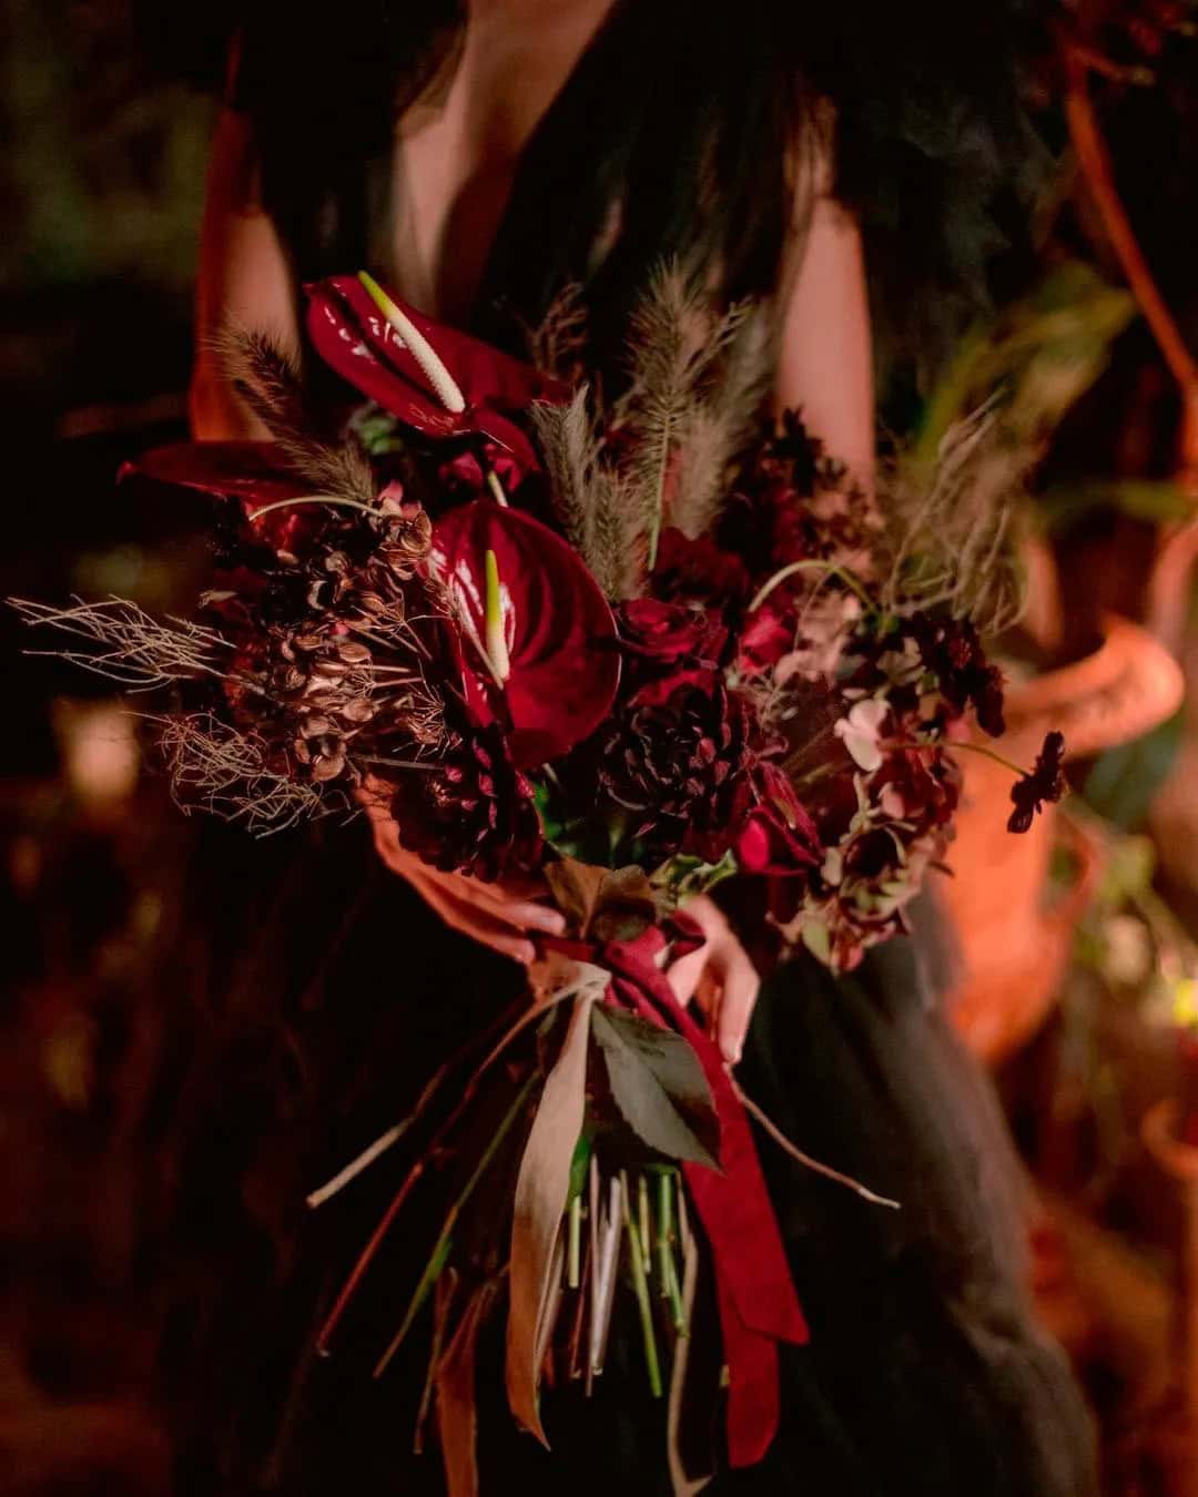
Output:
<svg viewBox="0 0 1198 1497">
<path fill-rule="evenodd" d="M 951 427 L 931 464 L 896 458 L 881 479 L 888 606 L 948 608 L 982 635 L 1023 612 L 1014 516 L 1036 460 L 993 403 Z"/>
</svg>

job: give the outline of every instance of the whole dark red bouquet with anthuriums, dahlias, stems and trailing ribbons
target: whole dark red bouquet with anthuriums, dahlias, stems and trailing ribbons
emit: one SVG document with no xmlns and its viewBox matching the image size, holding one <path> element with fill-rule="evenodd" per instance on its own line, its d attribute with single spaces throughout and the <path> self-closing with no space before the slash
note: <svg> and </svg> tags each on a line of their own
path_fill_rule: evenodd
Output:
<svg viewBox="0 0 1198 1497">
<path fill-rule="evenodd" d="M 686 900 L 734 877 L 761 880 L 780 942 L 837 970 L 903 930 L 951 837 L 969 714 L 1002 732 L 981 642 L 1011 606 L 1006 513 L 976 497 L 990 418 L 884 522 L 795 415 L 762 418 L 762 310 L 708 316 L 675 269 L 641 304 L 609 400 L 583 377 L 577 299 L 541 331 L 535 367 L 367 274 L 307 298 L 350 409 L 329 424 L 270 341 L 237 337 L 240 388 L 273 440 L 136 464 L 216 499 L 199 620 L 120 599 L 16 606 L 84 636 L 70 654 L 90 669 L 172 693 L 148 722 L 184 808 L 270 832 L 370 805 L 437 868 L 542 879 L 566 918 L 518 1009 L 313 1195 L 424 1133 L 320 1349 L 413 1190 L 445 1169 L 443 1228 L 377 1370 L 431 1301 L 454 1493 L 476 1487 L 475 1343 L 500 1289 L 511 1409 L 544 1440 L 542 1376 L 589 1386 L 602 1371 L 621 1278 L 650 1392 L 674 1347 L 678 1394 L 701 1260 L 728 1458 L 752 1464 L 777 1427 L 777 1344 L 807 1329 L 756 1109 L 666 970 L 701 939 Z M 1017 778 L 1012 829 L 1062 793 L 1060 750 L 1050 735 Z M 484 1202 L 512 1178 L 497 1247 Z"/>
</svg>

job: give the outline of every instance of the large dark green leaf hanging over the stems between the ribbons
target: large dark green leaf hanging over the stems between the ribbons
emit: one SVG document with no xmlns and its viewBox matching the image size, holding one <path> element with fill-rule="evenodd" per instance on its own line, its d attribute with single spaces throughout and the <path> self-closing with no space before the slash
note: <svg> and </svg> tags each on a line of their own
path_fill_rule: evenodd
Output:
<svg viewBox="0 0 1198 1497">
<path fill-rule="evenodd" d="M 717 1169 L 720 1129 L 711 1090 L 681 1034 L 603 1004 L 592 1010 L 592 1030 L 629 1127 L 666 1159 Z"/>
</svg>

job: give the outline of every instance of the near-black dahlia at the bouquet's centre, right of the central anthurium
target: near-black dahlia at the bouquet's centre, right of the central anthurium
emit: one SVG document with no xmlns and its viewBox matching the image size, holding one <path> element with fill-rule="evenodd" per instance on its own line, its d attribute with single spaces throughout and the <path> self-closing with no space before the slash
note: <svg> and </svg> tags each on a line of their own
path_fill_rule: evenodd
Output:
<svg viewBox="0 0 1198 1497">
<path fill-rule="evenodd" d="M 630 704 L 599 762 L 600 792 L 629 813 L 627 837 L 660 862 L 680 850 L 719 861 L 728 849 L 741 777 L 755 756 L 744 698 L 716 683 L 681 684 L 668 699 Z"/>
</svg>

